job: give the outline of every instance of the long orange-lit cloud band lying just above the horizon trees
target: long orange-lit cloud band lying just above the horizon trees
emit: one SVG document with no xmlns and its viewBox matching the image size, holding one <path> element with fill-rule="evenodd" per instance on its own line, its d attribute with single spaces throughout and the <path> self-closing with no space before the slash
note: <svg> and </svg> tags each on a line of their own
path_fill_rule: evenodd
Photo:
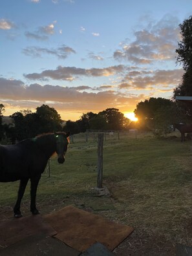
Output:
<svg viewBox="0 0 192 256">
<path fill-rule="evenodd" d="M 125 96 L 116 94 L 115 91 L 86 92 L 91 89 L 87 86 L 61 87 L 52 85 L 40 85 L 34 83 L 26 85 L 20 80 L 6 80 L 0 78 L 0 99 L 3 104 L 10 104 L 13 107 L 35 109 L 43 103 L 48 103 L 57 110 L 65 111 L 102 111 L 107 107 L 123 107 L 129 102 L 129 106 L 134 108 L 138 103 L 138 96 Z M 106 87 L 105 89 L 109 89 Z M 125 107 L 125 106 L 124 106 Z"/>
</svg>

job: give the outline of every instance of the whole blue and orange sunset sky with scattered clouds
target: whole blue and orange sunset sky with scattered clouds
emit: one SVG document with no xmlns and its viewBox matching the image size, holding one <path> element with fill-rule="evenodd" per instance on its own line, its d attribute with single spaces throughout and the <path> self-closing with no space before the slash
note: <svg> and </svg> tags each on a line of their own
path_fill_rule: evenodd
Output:
<svg viewBox="0 0 192 256">
<path fill-rule="evenodd" d="M 46 104 L 76 121 L 171 99 L 179 24 L 191 15 L 191 0 L 1 0 L 3 114 Z"/>
</svg>

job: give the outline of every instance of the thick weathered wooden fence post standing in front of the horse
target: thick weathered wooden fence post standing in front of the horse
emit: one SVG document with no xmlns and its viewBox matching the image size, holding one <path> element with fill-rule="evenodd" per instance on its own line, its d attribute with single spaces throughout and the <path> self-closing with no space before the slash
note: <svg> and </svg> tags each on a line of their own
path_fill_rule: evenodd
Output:
<svg viewBox="0 0 192 256">
<path fill-rule="evenodd" d="M 98 188 L 103 186 L 103 135 L 103 133 L 98 133 Z"/>
</svg>

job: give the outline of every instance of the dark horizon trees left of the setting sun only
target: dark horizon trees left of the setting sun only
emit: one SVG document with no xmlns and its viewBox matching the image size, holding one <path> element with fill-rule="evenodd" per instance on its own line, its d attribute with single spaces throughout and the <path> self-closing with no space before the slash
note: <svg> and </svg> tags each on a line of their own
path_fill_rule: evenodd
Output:
<svg viewBox="0 0 192 256">
<path fill-rule="evenodd" d="M 77 134 L 84 133 L 87 129 L 122 130 L 128 129 L 130 123 L 130 120 L 115 108 L 106 109 L 98 114 L 83 113 L 76 122 L 63 122 L 56 109 L 43 104 L 36 108 L 36 112 L 27 109 L 10 115 L 13 124 L 3 124 L 4 111 L 5 106 L 0 104 L 0 141 L 8 138 L 12 144 L 42 133 L 70 131 L 70 134 Z"/>
</svg>

